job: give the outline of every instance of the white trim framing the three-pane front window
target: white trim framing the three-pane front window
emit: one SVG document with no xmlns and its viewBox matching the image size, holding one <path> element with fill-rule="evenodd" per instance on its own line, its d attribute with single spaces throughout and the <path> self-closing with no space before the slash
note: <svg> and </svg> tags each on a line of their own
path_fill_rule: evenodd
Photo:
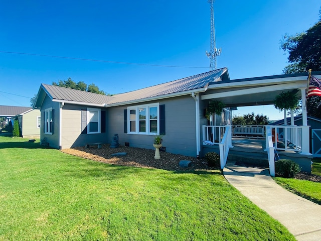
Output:
<svg viewBox="0 0 321 241">
<path fill-rule="evenodd" d="M 157 107 L 157 133 L 149 132 L 149 108 Z M 139 132 L 139 108 L 145 108 L 146 111 L 146 132 Z M 134 109 L 136 111 L 136 119 L 135 119 L 135 132 L 130 132 L 130 110 Z M 159 135 L 159 103 L 151 103 L 144 105 L 135 105 L 127 107 L 127 134 L 138 134 L 138 135 Z"/>
</svg>

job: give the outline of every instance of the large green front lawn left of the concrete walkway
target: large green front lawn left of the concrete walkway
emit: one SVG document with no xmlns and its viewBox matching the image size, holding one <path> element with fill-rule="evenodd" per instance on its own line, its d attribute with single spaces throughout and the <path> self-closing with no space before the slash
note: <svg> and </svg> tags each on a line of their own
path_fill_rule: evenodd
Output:
<svg viewBox="0 0 321 241">
<path fill-rule="evenodd" d="M 219 171 L 112 166 L 26 141 L 0 137 L 0 240 L 295 240 Z"/>
</svg>

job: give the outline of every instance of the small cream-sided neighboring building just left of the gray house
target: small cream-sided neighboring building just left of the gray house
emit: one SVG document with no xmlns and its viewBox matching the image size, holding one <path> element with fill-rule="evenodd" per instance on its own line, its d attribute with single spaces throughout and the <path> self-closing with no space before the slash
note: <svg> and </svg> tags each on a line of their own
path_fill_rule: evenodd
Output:
<svg viewBox="0 0 321 241">
<path fill-rule="evenodd" d="M 30 109 L 16 115 L 23 138 L 40 138 L 41 116 L 39 109 Z"/>
</svg>

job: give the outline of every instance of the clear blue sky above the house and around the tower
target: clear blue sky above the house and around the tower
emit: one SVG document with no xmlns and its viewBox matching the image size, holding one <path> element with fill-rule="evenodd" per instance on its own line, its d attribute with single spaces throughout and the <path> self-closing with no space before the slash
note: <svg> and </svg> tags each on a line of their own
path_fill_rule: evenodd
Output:
<svg viewBox="0 0 321 241">
<path fill-rule="evenodd" d="M 228 67 L 231 79 L 282 74 L 282 36 L 313 26 L 320 6 L 316 0 L 216 0 L 217 66 Z M 1 1 L 0 23 L 1 105 L 30 106 L 41 83 L 68 77 L 114 94 L 209 70 L 207 0 Z M 273 106 L 234 114 L 252 111 L 283 116 Z"/>
</svg>

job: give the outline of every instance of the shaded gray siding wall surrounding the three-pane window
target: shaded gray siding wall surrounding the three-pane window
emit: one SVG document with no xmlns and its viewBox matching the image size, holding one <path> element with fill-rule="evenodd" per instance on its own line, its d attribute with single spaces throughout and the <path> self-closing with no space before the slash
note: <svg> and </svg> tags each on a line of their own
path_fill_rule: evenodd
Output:
<svg viewBox="0 0 321 241">
<path fill-rule="evenodd" d="M 139 105 L 157 103 L 143 102 Z M 196 128 L 195 128 L 195 100 L 192 96 L 174 97 L 158 101 L 165 104 L 166 135 L 163 137 L 163 146 L 166 152 L 186 156 L 196 156 Z M 114 134 L 118 134 L 119 144 L 129 143 L 130 147 L 154 149 L 152 135 L 124 133 L 124 109 L 128 106 L 108 108 L 108 141 Z"/>
</svg>

